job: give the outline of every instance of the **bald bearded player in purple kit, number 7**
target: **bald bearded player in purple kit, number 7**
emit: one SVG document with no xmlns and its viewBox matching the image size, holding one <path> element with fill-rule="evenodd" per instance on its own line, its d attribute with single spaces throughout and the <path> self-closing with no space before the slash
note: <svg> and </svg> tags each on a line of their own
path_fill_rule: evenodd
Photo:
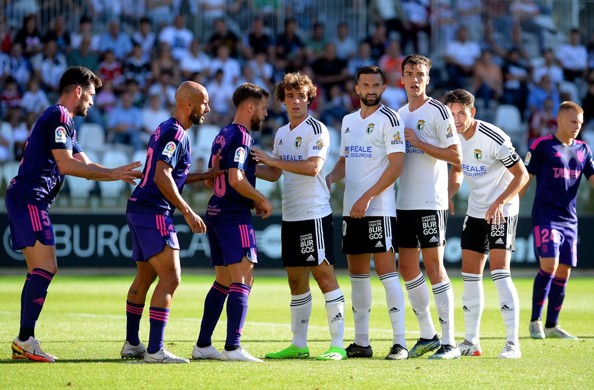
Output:
<svg viewBox="0 0 594 390">
<path fill-rule="evenodd" d="M 126 219 L 132 235 L 132 258 L 137 275 L 126 302 L 126 341 L 122 358 L 143 358 L 145 363 L 189 363 L 163 347 L 169 307 L 181 282 L 179 243 L 173 227 L 178 209 L 192 229 L 203 233 L 206 226 L 181 197 L 185 184 L 219 176 L 219 166 L 207 173 L 188 173 L 192 151 L 187 129 L 201 125 L 208 108 L 206 88 L 193 81 L 181 84 L 175 93 L 173 117 L 161 123 L 149 140 L 144 178 L 128 199 Z M 149 345 L 138 337 L 140 318 L 151 284 L 159 277 L 150 302 Z"/>
</svg>

